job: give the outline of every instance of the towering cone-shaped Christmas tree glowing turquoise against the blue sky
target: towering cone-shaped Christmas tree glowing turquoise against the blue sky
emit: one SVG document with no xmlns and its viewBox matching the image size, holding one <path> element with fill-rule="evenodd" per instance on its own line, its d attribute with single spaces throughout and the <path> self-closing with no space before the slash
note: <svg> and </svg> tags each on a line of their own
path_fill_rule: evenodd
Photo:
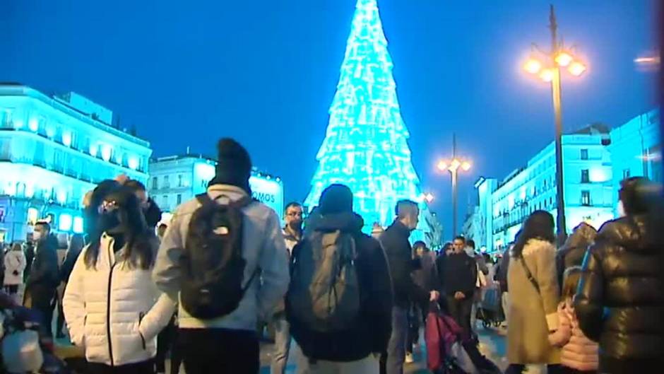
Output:
<svg viewBox="0 0 664 374">
<path fill-rule="evenodd" d="M 348 185 L 367 231 L 386 226 L 400 199 L 422 202 L 376 0 L 357 0 L 330 120 L 307 206 L 332 183 Z M 428 212 L 427 212 L 428 213 Z M 424 220 L 421 220 L 424 221 Z"/>
</svg>

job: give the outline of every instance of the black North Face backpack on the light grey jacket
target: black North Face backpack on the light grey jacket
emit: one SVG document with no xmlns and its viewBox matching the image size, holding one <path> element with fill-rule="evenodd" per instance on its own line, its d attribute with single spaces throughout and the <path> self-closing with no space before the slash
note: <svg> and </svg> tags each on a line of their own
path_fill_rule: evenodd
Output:
<svg viewBox="0 0 664 374">
<path fill-rule="evenodd" d="M 247 261 L 242 257 L 242 207 L 250 197 L 218 204 L 207 193 L 189 222 L 180 258 L 180 303 L 192 317 L 210 320 L 237 309 L 259 269 L 242 286 Z"/>
</svg>

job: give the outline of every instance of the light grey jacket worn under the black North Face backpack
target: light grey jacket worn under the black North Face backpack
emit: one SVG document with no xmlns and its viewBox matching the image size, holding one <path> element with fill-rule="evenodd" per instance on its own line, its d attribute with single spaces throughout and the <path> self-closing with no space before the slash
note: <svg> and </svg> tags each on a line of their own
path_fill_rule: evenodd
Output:
<svg viewBox="0 0 664 374">
<path fill-rule="evenodd" d="M 247 195 L 243 189 L 230 185 L 211 185 L 208 194 L 218 198 L 219 204 L 227 204 L 229 197 L 237 201 Z M 222 197 L 225 195 L 226 197 Z M 179 258 L 189 230 L 192 214 L 201 204 L 196 199 L 178 206 L 159 247 L 153 279 L 157 286 L 174 300 L 178 299 L 180 283 Z M 244 281 L 247 282 L 256 268 L 261 269 L 261 281 L 252 282 L 244 293 L 239 307 L 229 315 L 213 320 L 198 320 L 180 306 L 179 327 L 189 329 L 225 328 L 255 330 L 257 317 L 267 317 L 285 295 L 290 275 L 288 255 L 275 211 L 257 201 L 245 206 L 243 257 L 247 260 Z"/>
</svg>

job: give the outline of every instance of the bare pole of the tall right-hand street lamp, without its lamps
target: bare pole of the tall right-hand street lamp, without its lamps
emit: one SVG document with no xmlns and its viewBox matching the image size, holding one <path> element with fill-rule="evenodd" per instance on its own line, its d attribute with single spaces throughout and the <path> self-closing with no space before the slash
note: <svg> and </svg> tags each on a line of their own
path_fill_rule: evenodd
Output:
<svg viewBox="0 0 664 374">
<path fill-rule="evenodd" d="M 562 245 L 567 236 L 567 226 L 565 223 L 565 199 L 564 199 L 564 179 L 563 179 L 563 163 L 562 163 L 562 105 L 560 93 L 560 69 L 555 63 L 555 57 L 558 54 L 559 44 L 556 23 L 556 15 L 551 5 L 550 11 L 550 25 L 551 29 L 551 59 L 553 66 L 555 66 L 553 73 L 553 80 L 551 81 L 551 93 L 553 97 L 553 112 L 555 115 L 556 124 L 556 212 L 557 212 L 557 236 L 558 244 Z"/>
</svg>

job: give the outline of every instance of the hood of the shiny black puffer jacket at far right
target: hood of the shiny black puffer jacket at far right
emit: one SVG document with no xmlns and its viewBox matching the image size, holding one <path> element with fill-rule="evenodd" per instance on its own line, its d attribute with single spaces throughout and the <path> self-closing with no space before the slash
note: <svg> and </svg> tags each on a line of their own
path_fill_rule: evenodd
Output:
<svg viewBox="0 0 664 374">
<path fill-rule="evenodd" d="M 656 234 L 652 233 L 649 217 L 634 215 L 615 219 L 605 223 L 595 238 L 595 242 L 606 241 L 636 252 L 653 252 L 661 250 L 656 242 Z"/>
</svg>

